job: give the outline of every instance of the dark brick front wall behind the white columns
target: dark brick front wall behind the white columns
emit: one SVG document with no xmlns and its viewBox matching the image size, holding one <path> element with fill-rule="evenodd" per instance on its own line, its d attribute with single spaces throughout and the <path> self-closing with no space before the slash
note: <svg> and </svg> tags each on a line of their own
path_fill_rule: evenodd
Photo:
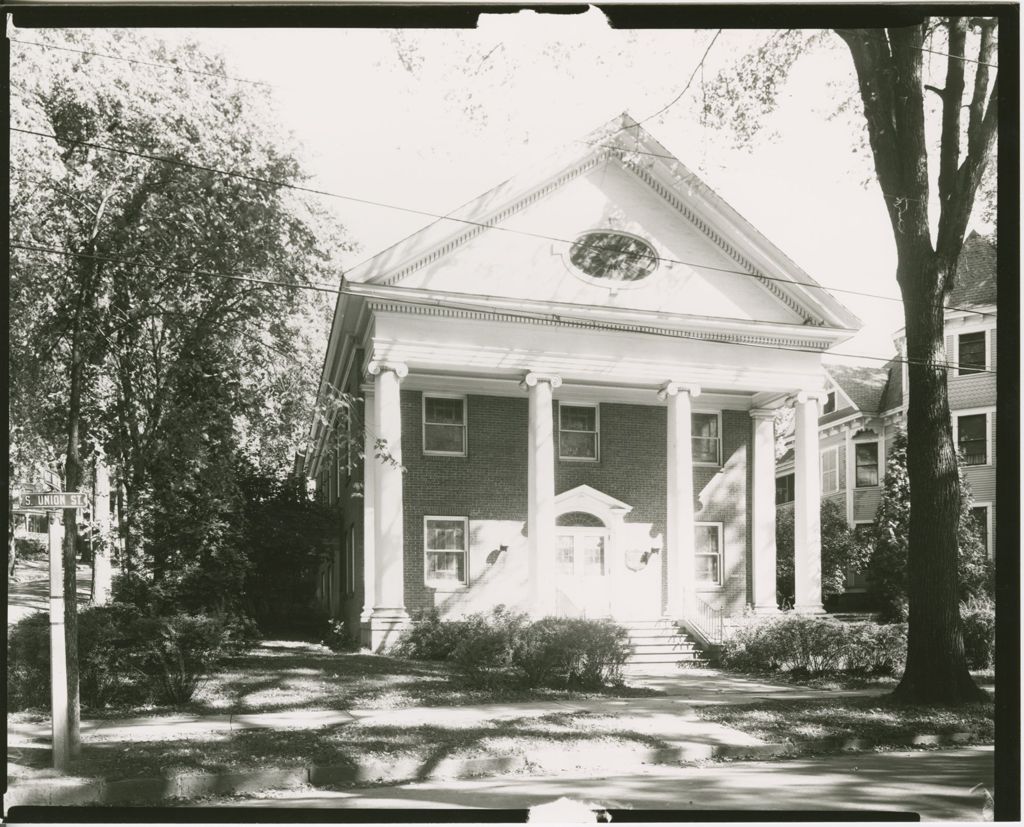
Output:
<svg viewBox="0 0 1024 827">
<path fill-rule="evenodd" d="M 470 520 L 470 577 L 489 573 L 505 561 L 496 558 L 505 545 L 507 582 L 521 582 L 518 556 L 524 555 L 527 484 L 528 400 L 467 397 L 466 456 L 424 455 L 422 394 L 402 391 L 402 463 L 404 485 L 406 605 L 410 612 L 462 598 L 437 594 L 424 582 L 423 518 L 464 516 Z M 552 416 L 557 416 L 553 408 Z M 557 423 L 557 419 L 553 420 Z M 555 461 L 555 492 L 589 485 L 633 507 L 627 524 L 651 537 L 666 528 L 666 409 L 605 403 L 600 407 L 598 462 Z M 556 431 L 557 434 L 557 431 Z M 701 593 L 713 605 L 740 611 L 751 601 L 749 521 L 751 420 L 746 411 L 723 411 L 723 467 L 695 468 L 694 493 L 700 502 L 697 522 L 723 524 L 723 587 Z M 492 548 L 494 547 L 494 548 Z M 659 565 L 664 566 L 665 555 Z M 497 565 L 496 565 L 497 560 Z M 516 566 L 519 565 L 519 568 Z M 514 572 L 514 574 L 513 574 Z M 482 575 L 481 575 L 482 576 Z M 486 579 L 486 577 L 483 577 Z M 664 579 L 664 578 L 663 578 Z M 500 583 L 493 593 L 501 594 Z M 474 589 L 476 584 L 474 582 Z M 504 602 L 516 604 L 508 590 Z M 663 594 L 663 600 L 665 595 Z M 497 600 L 497 599 L 496 599 Z M 498 600 L 497 602 L 502 602 Z M 467 610 L 479 608 L 467 605 Z"/>
</svg>

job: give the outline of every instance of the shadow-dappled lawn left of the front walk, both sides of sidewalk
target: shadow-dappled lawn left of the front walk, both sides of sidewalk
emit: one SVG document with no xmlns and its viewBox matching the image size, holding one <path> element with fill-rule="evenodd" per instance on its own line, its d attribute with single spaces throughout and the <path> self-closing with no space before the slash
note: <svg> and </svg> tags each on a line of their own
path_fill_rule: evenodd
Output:
<svg viewBox="0 0 1024 827">
<path fill-rule="evenodd" d="M 265 641 L 245 655 L 225 660 L 184 707 L 117 707 L 83 710 L 83 719 L 120 719 L 164 713 L 243 714 L 289 710 L 394 711 L 414 706 L 453 707 L 476 703 L 579 700 L 597 696 L 660 695 L 656 690 L 609 687 L 602 693 L 556 689 L 481 687 L 450 665 L 360 653 L 334 652 L 317 644 Z M 41 720 L 40 711 L 14 712 L 12 723 Z M 203 735 L 163 736 L 153 741 L 87 738 L 73 760 L 75 775 L 108 778 L 162 777 L 174 773 L 232 772 L 260 767 L 354 766 L 368 758 L 411 760 L 429 772 L 445 757 L 518 757 L 522 769 L 543 771 L 545 750 L 559 760 L 611 754 L 623 760 L 659 739 L 618 732 L 612 722 L 586 712 L 535 713 L 467 726 L 437 722 L 389 725 L 386 717 L 353 721 L 312 730 L 232 730 Z M 18 775 L 32 776 L 50 760 L 45 745 L 11 746 Z M 549 755 L 549 759 L 550 755 Z"/>
</svg>

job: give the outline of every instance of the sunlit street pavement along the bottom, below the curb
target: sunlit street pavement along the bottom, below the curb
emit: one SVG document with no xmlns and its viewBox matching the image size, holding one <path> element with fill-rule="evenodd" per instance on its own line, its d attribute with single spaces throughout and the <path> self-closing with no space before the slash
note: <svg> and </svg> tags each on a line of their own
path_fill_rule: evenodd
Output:
<svg viewBox="0 0 1024 827">
<path fill-rule="evenodd" d="M 485 808 L 523 811 L 568 797 L 609 810 L 865 811 L 918 814 L 925 821 L 984 819 L 993 790 L 992 747 L 938 752 L 865 752 L 785 761 L 656 767 L 647 772 L 428 781 L 364 789 L 291 789 L 202 807 L 348 809 Z M 443 818 L 438 815 L 438 819 Z M 397 814 L 394 821 L 401 822 Z M 510 818 L 518 822 L 522 818 Z M 671 821 L 666 817 L 666 821 Z"/>
</svg>

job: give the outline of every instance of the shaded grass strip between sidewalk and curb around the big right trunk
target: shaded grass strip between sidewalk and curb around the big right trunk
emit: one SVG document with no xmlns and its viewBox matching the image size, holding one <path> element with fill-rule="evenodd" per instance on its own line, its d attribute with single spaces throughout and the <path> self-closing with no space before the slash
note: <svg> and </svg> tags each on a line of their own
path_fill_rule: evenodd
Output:
<svg viewBox="0 0 1024 827">
<path fill-rule="evenodd" d="M 814 752 L 840 751 L 843 742 L 853 738 L 884 748 L 905 747 L 915 735 L 966 733 L 964 744 L 990 744 L 994 737 L 991 703 L 943 707 L 900 704 L 886 697 L 838 697 L 703 706 L 696 711 L 705 721 L 734 727 L 769 743 L 791 743 Z"/>
</svg>

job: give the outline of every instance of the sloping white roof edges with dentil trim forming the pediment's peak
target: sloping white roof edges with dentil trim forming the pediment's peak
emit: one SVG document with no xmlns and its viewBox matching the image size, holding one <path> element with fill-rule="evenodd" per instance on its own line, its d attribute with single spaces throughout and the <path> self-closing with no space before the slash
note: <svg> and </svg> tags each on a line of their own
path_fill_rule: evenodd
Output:
<svg viewBox="0 0 1024 827">
<path fill-rule="evenodd" d="M 556 232 L 545 232 L 543 225 L 540 231 L 523 233 L 511 219 L 610 160 L 656 193 L 681 225 L 695 228 L 727 261 L 734 262 L 712 270 L 720 269 L 724 275 L 734 267 L 741 275 L 753 276 L 752 281 L 772 294 L 780 305 L 788 306 L 805 324 L 851 332 L 860 328 L 853 313 L 817 287 L 810 275 L 627 114 L 362 262 L 346 273 L 345 279 L 349 284 L 395 286 L 492 228 L 531 235 L 546 244 L 571 244 Z"/>
</svg>

